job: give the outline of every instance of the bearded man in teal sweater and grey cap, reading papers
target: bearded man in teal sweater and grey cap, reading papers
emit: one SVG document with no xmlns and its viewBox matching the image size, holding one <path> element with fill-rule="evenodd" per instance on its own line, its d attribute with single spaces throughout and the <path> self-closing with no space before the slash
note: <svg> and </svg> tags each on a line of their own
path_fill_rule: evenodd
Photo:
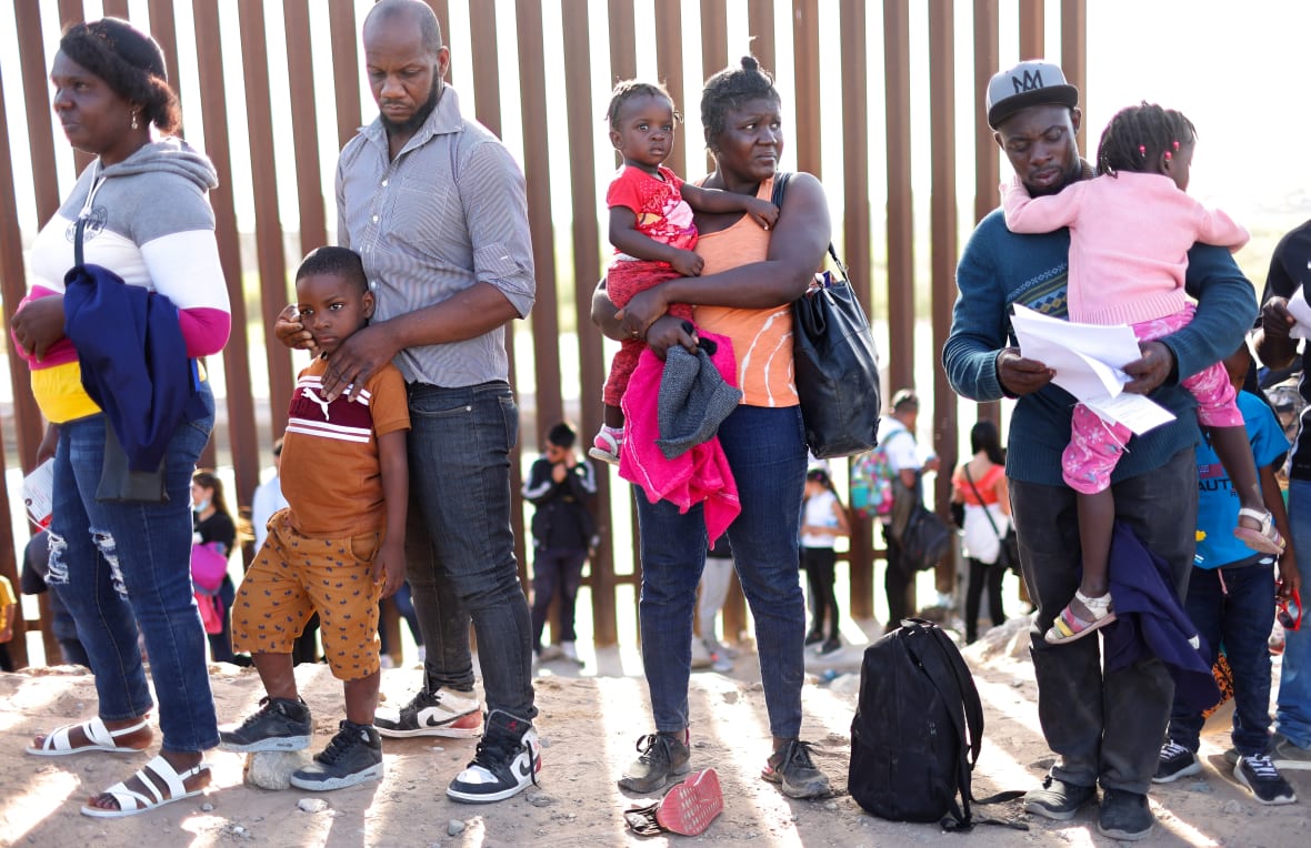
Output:
<svg viewBox="0 0 1311 848">
<path fill-rule="evenodd" d="M 1054 194 L 1092 176 L 1079 157 L 1079 92 L 1061 68 L 1024 62 L 988 83 L 988 125 L 1016 176 L 1033 195 Z M 1079 585 L 1075 493 L 1061 478 L 1075 400 L 1053 372 L 1025 359 L 1009 324 L 1011 304 L 1066 317 L 1070 236 L 1021 236 L 994 210 L 974 229 L 957 269 L 960 294 L 943 366 L 952 388 L 975 401 L 1019 398 L 1011 418 L 1007 478 L 1025 583 L 1037 604 L 1032 629 L 1038 717 L 1058 755 L 1025 810 L 1066 820 L 1103 789 L 1097 830 L 1143 839 L 1152 828 L 1147 790 L 1156 771 L 1173 684 L 1147 658 L 1103 675 L 1096 638 L 1047 645 L 1042 634 Z M 1151 395 L 1176 419 L 1129 443 L 1112 477 L 1116 519 L 1171 565 L 1180 598 L 1193 564 L 1200 438 L 1196 404 L 1180 379 L 1232 353 L 1256 315 L 1252 284 L 1223 248 L 1194 245 L 1186 290 L 1197 315 L 1184 329 L 1141 345 L 1125 371 L 1127 391 Z"/>
</svg>

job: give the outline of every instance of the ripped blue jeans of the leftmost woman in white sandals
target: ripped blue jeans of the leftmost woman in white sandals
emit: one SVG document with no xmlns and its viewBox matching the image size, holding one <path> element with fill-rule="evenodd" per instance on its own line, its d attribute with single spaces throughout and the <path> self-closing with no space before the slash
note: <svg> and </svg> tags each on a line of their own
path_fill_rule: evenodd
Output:
<svg viewBox="0 0 1311 848">
<path fill-rule="evenodd" d="M 163 747 L 195 752 L 219 743 L 205 665 L 205 629 L 191 596 L 191 472 L 214 427 L 210 414 L 178 425 L 165 455 L 168 503 L 96 499 L 105 456 L 105 417 L 59 429 L 55 450 L 50 577 L 77 623 L 96 675 L 98 713 L 109 721 L 153 706 L 138 628 L 159 697 Z"/>
</svg>

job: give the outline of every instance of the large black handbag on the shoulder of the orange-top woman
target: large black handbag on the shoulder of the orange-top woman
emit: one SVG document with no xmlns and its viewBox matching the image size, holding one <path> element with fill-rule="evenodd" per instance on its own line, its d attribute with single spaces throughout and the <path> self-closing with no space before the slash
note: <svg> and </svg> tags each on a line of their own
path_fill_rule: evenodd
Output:
<svg viewBox="0 0 1311 848">
<path fill-rule="evenodd" d="M 792 174 L 773 178 L 773 204 Z M 818 459 L 852 456 L 878 444 L 878 357 L 869 320 L 832 244 L 829 256 L 842 274 L 817 275 L 822 284 L 792 304 L 793 379 L 801 400 L 806 444 Z"/>
</svg>

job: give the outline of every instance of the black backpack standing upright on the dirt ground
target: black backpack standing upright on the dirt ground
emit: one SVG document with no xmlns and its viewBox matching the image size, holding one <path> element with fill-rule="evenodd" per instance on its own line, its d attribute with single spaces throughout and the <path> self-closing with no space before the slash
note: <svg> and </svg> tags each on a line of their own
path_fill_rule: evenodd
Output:
<svg viewBox="0 0 1311 848">
<path fill-rule="evenodd" d="M 851 722 L 851 797 L 893 822 L 1027 824 L 971 817 L 970 803 L 1013 801 L 1021 792 L 974 798 L 970 773 L 983 744 L 983 705 L 961 651 L 919 619 L 865 649 L 860 701 Z M 957 801 L 958 798 L 958 801 Z"/>
</svg>

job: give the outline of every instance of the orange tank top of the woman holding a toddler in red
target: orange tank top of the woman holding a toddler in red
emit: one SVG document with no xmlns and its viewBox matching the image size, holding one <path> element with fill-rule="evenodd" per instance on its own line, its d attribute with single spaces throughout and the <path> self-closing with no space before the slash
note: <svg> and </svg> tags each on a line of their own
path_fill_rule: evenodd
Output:
<svg viewBox="0 0 1311 848">
<path fill-rule="evenodd" d="M 772 191 L 771 177 L 760 183 L 756 197 L 768 201 Z M 763 262 L 768 249 L 770 232 L 747 215 L 728 229 L 701 233 L 696 244 L 696 252 L 705 261 L 703 277 Z M 797 405 L 797 387 L 792 376 L 792 304 L 772 309 L 699 305 L 694 311 L 699 328 L 733 341 L 743 404 Z"/>
</svg>

